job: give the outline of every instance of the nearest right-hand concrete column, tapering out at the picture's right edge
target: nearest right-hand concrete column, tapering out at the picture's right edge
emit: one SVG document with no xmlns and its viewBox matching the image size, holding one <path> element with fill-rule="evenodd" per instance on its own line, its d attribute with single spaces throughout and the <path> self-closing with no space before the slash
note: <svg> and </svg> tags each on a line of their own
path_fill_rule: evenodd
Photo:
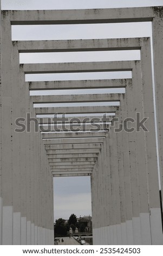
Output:
<svg viewBox="0 0 163 256">
<path fill-rule="evenodd" d="M 158 147 L 159 147 L 159 164 L 160 164 L 160 181 L 161 193 L 163 194 L 163 119 L 162 119 L 162 7 L 153 7 L 154 19 L 152 21 L 152 35 L 153 35 L 153 57 L 154 57 L 154 81 L 155 81 L 155 96 L 156 96 L 156 110 L 157 110 L 157 129 L 158 129 Z M 157 209 L 157 208 L 156 208 Z M 159 210 L 155 211 L 156 216 L 159 215 Z M 158 242 L 156 239 L 155 242 Z"/>
</svg>

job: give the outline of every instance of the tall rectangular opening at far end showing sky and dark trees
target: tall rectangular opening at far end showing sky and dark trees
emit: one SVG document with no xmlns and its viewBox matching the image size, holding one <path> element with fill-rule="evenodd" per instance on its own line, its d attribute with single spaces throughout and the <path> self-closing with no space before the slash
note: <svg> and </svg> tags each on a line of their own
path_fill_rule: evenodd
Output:
<svg viewBox="0 0 163 256">
<path fill-rule="evenodd" d="M 73 229 L 73 234 L 75 234 L 75 229 L 77 228 L 78 235 L 92 235 L 90 176 L 84 171 L 83 174 L 80 173 L 82 173 L 82 170 L 74 171 L 74 174 L 71 174 L 71 176 L 68 176 L 70 174 L 66 174 L 66 172 L 63 172 L 61 177 L 57 177 L 57 173 L 54 174 L 54 220 L 56 220 L 56 223 L 60 218 L 64 220 L 62 229 L 58 225 L 54 227 L 56 237 L 61 235 L 67 236 L 70 227 Z M 75 215 L 76 218 L 70 218 L 71 215 Z M 65 239 L 69 240 L 70 238 L 67 237 Z M 76 242 L 76 244 L 79 243 Z"/>
</svg>

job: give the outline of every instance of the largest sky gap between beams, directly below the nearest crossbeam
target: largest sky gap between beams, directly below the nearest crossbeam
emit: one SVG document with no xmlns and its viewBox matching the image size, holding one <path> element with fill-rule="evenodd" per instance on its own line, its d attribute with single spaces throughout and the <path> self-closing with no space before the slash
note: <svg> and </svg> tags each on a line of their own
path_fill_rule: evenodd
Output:
<svg viewBox="0 0 163 256">
<path fill-rule="evenodd" d="M 151 22 L 12 25 L 12 40 L 136 38 L 151 35 Z"/>
</svg>

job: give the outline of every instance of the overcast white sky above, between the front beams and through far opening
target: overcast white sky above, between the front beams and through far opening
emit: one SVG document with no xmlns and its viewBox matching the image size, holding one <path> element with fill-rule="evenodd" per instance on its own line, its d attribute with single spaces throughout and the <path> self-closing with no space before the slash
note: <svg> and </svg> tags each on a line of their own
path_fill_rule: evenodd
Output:
<svg viewBox="0 0 163 256">
<path fill-rule="evenodd" d="M 2 9 L 15 10 L 32 10 L 32 9 L 92 9 L 92 8 L 117 8 L 117 7 L 145 7 L 158 6 L 163 4 L 163 0 L 1 0 Z M 103 25 L 51 25 L 44 26 L 27 26 L 25 29 L 22 26 L 12 28 L 13 40 L 57 40 L 57 39 L 92 39 L 92 38 L 125 38 L 151 36 L 151 23 L 126 23 L 124 24 L 103 24 Z M 69 53 L 66 53 L 69 54 Z M 78 54 L 78 53 L 75 53 Z M 96 54 L 88 56 L 82 53 L 83 61 L 91 61 L 92 58 L 101 60 L 108 58 L 109 60 L 121 59 L 139 59 L 139 53 L 128 52 L 117 54 L 116 52 L 100 53 L 100 57 Z M 92 54 L 92 53 L 91 53 Z M 125 54 L 125 55 L 124 55 Z M 111 56 L 112 55 L 112 56 Z M 81 58 L 80 53 L 74 57 L 65 53 L 53 53 L 49 56 L 37 54 L 22 54 L 22 63 L 32 62 L 69 62 L 70 59 Z M 35 60 L 34 60 L 35 59 Z M 87 74 L 89 75 L 89 74 Z M 102 74 L 104 75 L 104 74 Z M 53 80 L 59 79 L 54 77 L 54 74 L 45 74 L 42 78 L 29 75 L 28 81 Z M 115 76 L 115 74 L 114 74 Z M 130 77 L 130 74 L 117 74 L 119 78 Z M 113 74 L 106 74 L 106 78 L 112 78 Z M 63 75 L 62 75 L 63 78 Z M 97 77 L 98 78 L 98 77 Z M 100 78 L 100 76 L 99 76 Z M 115 77 L 113 77 L 115 78 Z M 64 78 L 65 80 L 69 78 Z M 76 79 L 76 78 L 75 78 Z M 85 79 L 88 79 L 85 78 Z M 78 217 L 80 215 L 91 215 L 91 197 L 90 197 L 90 178 L 89 177 L 74 177 L 74 178 L 55 178 L 54 179 L 54 218 L 68 218 L 74 213 Z"/>
</svg>

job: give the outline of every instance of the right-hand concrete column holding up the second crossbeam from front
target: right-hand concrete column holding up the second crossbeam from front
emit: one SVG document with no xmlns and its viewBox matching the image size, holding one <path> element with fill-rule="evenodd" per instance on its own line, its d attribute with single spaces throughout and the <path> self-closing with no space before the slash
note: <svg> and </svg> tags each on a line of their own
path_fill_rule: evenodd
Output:
<svg viewBox="0 0 163 256">
<path fill-rule="evenodd" d="M 141 70 L 142 70 L 142 102 L 144 116 L 148 117 L 146 121 L 146 127 L 149 132 L 144 132 L 145 138 L 145 154 L 146 154 L 146 168 L 147 168 L 147 190 L 148 190 L 148 200 L 149 207 L 155 208 L 155 210 L 142 211 L 140 214 L 140 220 L 142 225 L 142 244 L 150 244 L 152 239 L 152 244 L 155 244 L 156 237 L 158 243 L 162 243 L 162 230 L 160 227 L 161 223 L 161 213 L 160 213 L 160 198 L 159 198 L 159 182 L 158 182 L 158 162 L 157 162 L 157 149 L 156 149 L 156 139 L 155 139 L 155 119 L 154 119 L 154 100 L 153 100 L 153 84 L 152 84 L 152 64 L 151 64 L 151 47 L 150 39 L 144 40 L 144 44 L 141 50 Z M 142 132 L 142 131 L 141 131 Z M 144 174 L 145 176 L 145 174 Z M 145 180 L 145 179 L 144 179 Z M 142 187 L 143 179 L 141 179 Z M 145 181 L 144 181 L 145 182 Z M 148 206 L 147 206 L 148 207 Z M 147 209 L 146 207 L 146 209 Z M 156 210 L 156 208 L 159 208 Z M 154 217 L 154 212 L 158 212 L 158 216 Z M 151 215 L 151 217 L 150 217 Z M 154 224 L 152 227 L 152 219 L 155 218 L 158 224 Z M 151 220 L 150 220 L 151 219 Z M 149 220 L 151 222 L 151 234 L 149 230 Z M 146 228 L 145 228 L 146 227 Z M 145 238 L 146 237 L 146 238 Z M 155 238 L 154 238 L 155 237 Z"/>
</svg>

